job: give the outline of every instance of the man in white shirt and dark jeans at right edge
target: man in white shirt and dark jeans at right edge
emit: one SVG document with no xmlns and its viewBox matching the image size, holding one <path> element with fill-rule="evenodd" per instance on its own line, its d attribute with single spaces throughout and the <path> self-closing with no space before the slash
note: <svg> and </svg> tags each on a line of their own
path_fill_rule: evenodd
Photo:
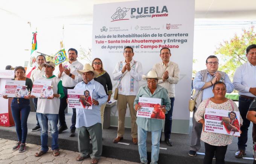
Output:
<svg viewBox="0 0 256 164">
<path fill-rule="evenodd" d="M 238 109 L 242 119 L 244 120 L 243 125 L 241 126 L 242 134 L 238 138 L 238 152 L 235 153 L 236 158 L 242 158 L 245 154 L 248 128 L 251 123 L 250 120 L 246 119 L 246 114 L 251 102 L 256 97 L 256 44 L 249 45 L 246 48 L 246 57 L 248 62 L 242 64 L 236 69 L 233 78 L 235 89 L 239 91 Z M 256 137 L 254 136 L 254 142 L 256 141 L 255 138 Z M 254 160 L 255 159 L 256 157 L 254 155 Z M 254 161 L 254 163 L 256 162 Z"/>
</svg>

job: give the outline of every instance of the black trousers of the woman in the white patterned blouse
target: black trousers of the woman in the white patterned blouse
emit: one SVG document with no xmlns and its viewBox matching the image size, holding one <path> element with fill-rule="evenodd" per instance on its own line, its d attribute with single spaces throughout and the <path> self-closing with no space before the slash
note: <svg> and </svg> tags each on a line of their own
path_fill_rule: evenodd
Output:
<svg viewBox="0 0 256 164">
<path fill-rule="evenodd" d="M 225 164 L 225 155 L 227 152 L 226 146 L 213 146 L 208 143 L 204 143 L 205 147 L 205 156 L 204 164 L 212 164 L 212 158 L 215 155 L 216 162 L 215 164 Z"/>
</svg>

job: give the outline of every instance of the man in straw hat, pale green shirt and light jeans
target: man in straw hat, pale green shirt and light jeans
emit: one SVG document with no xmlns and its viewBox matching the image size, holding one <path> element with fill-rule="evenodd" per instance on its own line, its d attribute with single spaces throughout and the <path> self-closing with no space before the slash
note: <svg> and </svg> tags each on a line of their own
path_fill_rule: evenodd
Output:
<svg viewBox="0 0 256 164">
<path fill-rule="evenodd" d="M 146 80 L 148 84 L 140 87 L 134 100 L 135 110 L 138 111 L 141 107 L 138 104 L 139 97 L 158 98 L 161 99 L 160 112 L 162 112 L 163 116 L 165 116 L 164 114 L 168 113 L 171 108 L 171 104 L 168 91 L 164 87 L 157 84 L 158 80 L 162 80 L 162 78 L 157 77 L 157 73 L 155 71 L 149 71 L 148 75 L 143 75 L 142 78 Z M 152 138 L 151 163 L 157 163 L 163 120 L 137 117 L 136 123 L 138 125 L 138 147 L 141 163 L 148 163 L 146 150 L 146 138 L 148 131 L 151 131 Z"/>
</svg>

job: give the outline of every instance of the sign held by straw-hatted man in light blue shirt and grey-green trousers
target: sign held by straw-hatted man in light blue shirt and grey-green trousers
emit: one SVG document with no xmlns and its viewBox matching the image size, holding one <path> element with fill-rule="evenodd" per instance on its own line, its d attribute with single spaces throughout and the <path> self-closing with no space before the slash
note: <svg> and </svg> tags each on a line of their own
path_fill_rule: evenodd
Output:
<svg viewBox="0 0 256 164">
<path fill-rule="evenodd" d="M 92 90 L 68 89 L 69 108 L 92 109 Z"/>
</svg>

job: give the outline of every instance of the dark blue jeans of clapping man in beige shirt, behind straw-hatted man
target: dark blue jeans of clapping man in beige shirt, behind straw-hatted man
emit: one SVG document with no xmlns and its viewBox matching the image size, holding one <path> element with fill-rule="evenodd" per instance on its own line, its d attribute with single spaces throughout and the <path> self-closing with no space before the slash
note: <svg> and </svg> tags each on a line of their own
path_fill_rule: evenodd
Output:
<svg viewBox="0 0 256 164">
<path fill-rule="evenodd" d="M 172 111 L 174 105 L 174 97 L 170 98 L 171 100 L 171 109 L 165 114 L 165 139 L 171 138 L 172 131 Z"/>
</svg>

